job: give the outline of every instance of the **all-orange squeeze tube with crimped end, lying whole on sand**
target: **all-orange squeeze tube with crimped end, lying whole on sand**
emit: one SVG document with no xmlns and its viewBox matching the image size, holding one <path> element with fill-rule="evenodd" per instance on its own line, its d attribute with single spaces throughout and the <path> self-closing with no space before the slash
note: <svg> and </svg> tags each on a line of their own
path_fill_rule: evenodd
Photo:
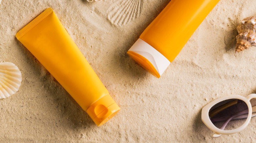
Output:
<svg viewBox="0 0 256 143">
<path fill-rule="evenodd" d="M 22 28 L 16 38 L 86 111 L 97 126 L 119 110 L 52 8 Z"/>
</svg>

